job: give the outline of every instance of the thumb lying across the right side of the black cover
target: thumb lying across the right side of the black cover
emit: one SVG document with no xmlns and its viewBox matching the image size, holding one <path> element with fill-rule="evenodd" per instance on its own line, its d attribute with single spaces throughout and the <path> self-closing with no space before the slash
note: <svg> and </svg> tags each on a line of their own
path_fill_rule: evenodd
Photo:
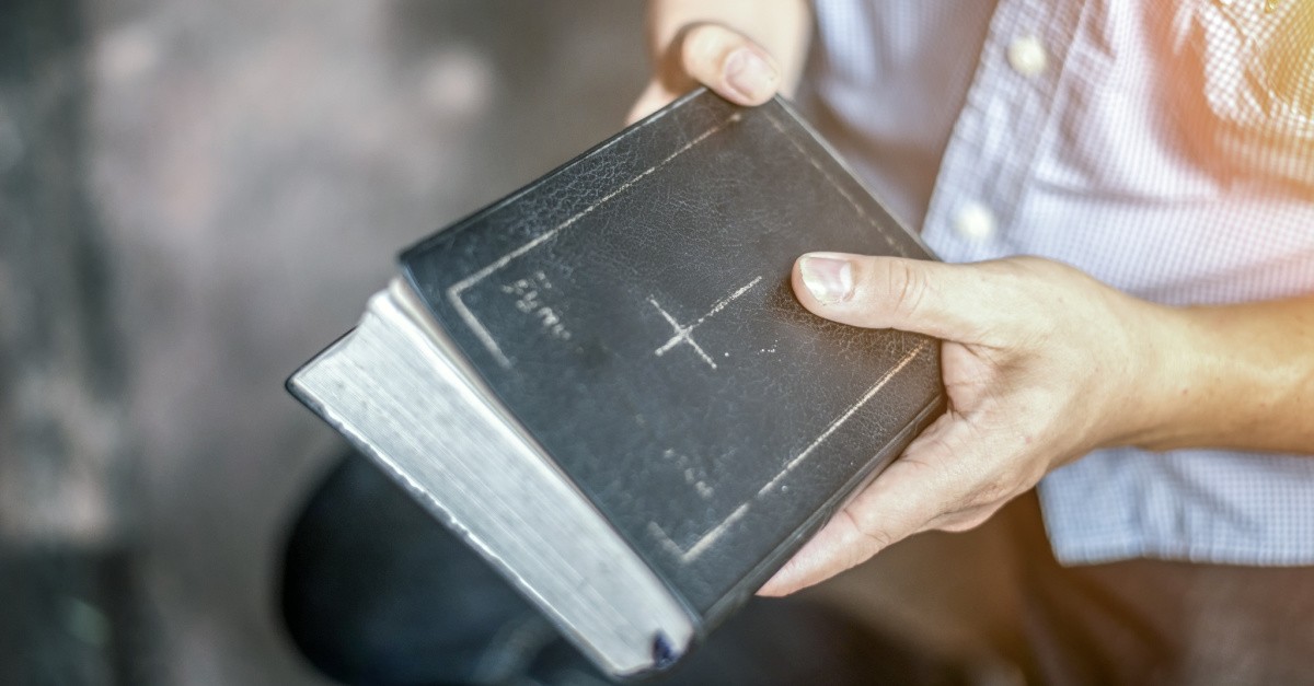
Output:
<svg viewBox="0 0 1314 686">
<path fill-rule="evenodd" d="M 1008 311 L 1008 289 L 983 264 L 809 252 L 794 263 L 794 293 L 812 313 L 869 329 L 984 343 Z"/>
</svg>

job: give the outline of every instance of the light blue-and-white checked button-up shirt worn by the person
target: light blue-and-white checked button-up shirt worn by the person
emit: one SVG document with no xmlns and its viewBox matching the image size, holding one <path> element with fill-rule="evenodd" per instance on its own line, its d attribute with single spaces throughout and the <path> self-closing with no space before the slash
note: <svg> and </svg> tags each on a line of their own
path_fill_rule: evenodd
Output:
<svg viewBox="0 0 1314 686">
<path fill-rule="evenodd" d="M 800 104 L 945 260 L 1042 255 L 1169 305 L 1314 293 L 1314 1 L 816 16 Z M 1039 494 L 1064 564 L 1314 564 L 1309 456 L 1106 449 Z"/>
</svg>

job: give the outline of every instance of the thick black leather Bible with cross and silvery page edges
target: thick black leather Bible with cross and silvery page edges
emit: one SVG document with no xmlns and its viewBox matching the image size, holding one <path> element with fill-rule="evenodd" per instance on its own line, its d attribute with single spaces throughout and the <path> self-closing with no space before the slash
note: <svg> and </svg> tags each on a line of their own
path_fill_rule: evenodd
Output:
<svg viewBox="0 0 1314 686">
<path fill-rule="evenodd" d="M 781 99 L 699 89 L 401 255 L 289 390 L 600 669 L 669 668 L 943 409 L 812 250 L 933 259 Z"/>
</svg>

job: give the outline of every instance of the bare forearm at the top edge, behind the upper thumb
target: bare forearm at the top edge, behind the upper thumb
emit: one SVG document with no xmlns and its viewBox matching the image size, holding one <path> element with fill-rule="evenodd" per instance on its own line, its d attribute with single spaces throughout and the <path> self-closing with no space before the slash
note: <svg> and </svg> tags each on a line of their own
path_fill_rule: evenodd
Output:
<svg viewBox="0 0 1314 686">
<path fill-rule="evenodd" d="M 703 22 L 723 24 L 762 46 L 781 68 L 782 92 L 794 93 L 812 30 L 805 0 L 650 0 L 648 46 L 658 70 L 681 32 Z"/>
</svg>

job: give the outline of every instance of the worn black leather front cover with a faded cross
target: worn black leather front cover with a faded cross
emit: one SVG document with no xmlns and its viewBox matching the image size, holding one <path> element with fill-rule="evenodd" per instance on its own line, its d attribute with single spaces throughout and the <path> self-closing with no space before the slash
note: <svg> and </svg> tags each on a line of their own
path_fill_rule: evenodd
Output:
<svg viewBox="0 0 1314 686">
<path fill-rule="evenodd" d="M 781 100 L 691 93 L 402 255 L 506 407 L 695 615 L 942 406 L 938 346 L 824 321 L 813 250 L 930 259 Z"/>
</svg>

